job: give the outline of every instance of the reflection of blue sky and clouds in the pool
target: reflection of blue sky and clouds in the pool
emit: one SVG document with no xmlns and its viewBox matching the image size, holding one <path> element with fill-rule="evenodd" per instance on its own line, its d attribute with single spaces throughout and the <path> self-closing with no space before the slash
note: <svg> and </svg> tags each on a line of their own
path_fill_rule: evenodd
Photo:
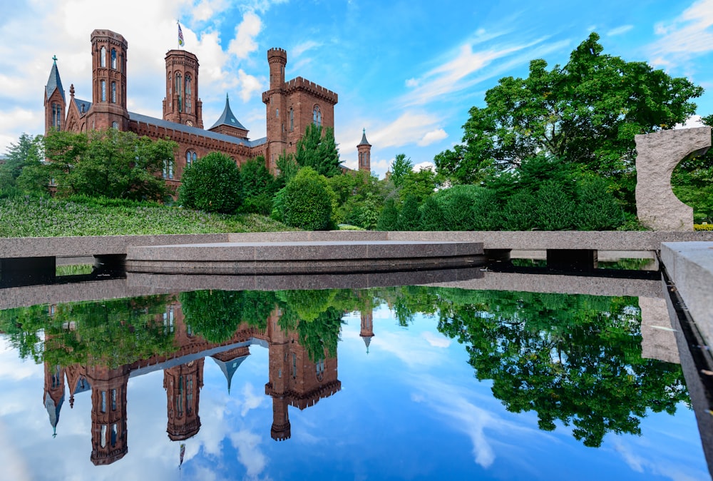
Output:
<svg viewBox="0 0 713 481">
<path fill-rule="evenodd" d="M 91 399 L 68 393 L 57 436 L 42 402 L 43 368 L 18 358 L 0 337 L 0 477 L 11 480 L 700 480 L 708 477 L 692 411 L 651 413 L 642 437 L 609 434 L 589 448 L 558 425 L 538 430 L 534 412 L 514 414 L 478 382 L 463 345 L 416 316 L 399 327 L 374 311 L 366 353 L 359 315 L 345 317 L 339 343 L 342 391 L 300 411 L 289 408 L 292 437 L 270 437 L 265 395 L 267 349 L 254 345 L 227 381 L 205 361 L 201 428 L 180 443 L 166 434 L 163 373 L 131 378 L 128 454 L 94 467 Z"/>
</svg>

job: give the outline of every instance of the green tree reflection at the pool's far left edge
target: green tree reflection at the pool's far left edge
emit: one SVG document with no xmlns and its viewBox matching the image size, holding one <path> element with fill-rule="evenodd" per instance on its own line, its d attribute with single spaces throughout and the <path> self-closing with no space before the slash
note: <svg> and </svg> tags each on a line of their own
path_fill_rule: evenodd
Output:
<svg viewBox="0 0 713 481">
<path fill-rule="evenodd" d="M 115 368 L 174 350 L 173 335 L 156 322 L 169 302 L 168 296 L 153 295 L 15 308 L 0 311 L 0 330 L 22 358 L 37 363 Z"/>
</svg>

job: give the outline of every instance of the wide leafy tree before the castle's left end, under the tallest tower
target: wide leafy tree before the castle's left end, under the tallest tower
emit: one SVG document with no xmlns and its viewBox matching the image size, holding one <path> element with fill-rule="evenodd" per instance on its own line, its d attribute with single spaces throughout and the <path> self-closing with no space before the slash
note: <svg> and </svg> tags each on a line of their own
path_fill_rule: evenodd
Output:
<svg viewBox="0 0 713 481">
<path fill-rule="evenodd" d="M 156 174 L 173 163 L 176 143 L 114 128 L 89 134 L 53 131 L 44 138 L 48 170 L 60 195 L 163 200 Z"/>
</svg>

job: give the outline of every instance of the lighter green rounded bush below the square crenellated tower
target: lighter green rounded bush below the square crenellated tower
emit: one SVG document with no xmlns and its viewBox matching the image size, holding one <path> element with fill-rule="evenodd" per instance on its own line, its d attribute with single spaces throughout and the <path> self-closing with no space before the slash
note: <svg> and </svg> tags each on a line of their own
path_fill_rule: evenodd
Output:
<svg viewBox="0 0 713 481">
<path fill-rule="evenodd" d="M 332 228 L 332 189 L 311 167 L 299 169 L 275 199 L 278 215 L 288 226 L 308 231 Z"/>
</svg>

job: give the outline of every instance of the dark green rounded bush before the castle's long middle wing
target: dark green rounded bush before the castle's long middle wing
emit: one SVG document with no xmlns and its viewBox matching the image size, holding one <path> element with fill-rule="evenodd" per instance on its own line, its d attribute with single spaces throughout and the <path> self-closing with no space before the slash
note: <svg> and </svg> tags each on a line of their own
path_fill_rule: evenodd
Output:
<svg viewBox="0 0 713 481">
<path fill-rule="evenodd" d="M 242 203 L 240 170 L 224 153 L 211 152 L 185 171 L 178 202 L 205 212 L 234 213 Z"/>
</svg>

